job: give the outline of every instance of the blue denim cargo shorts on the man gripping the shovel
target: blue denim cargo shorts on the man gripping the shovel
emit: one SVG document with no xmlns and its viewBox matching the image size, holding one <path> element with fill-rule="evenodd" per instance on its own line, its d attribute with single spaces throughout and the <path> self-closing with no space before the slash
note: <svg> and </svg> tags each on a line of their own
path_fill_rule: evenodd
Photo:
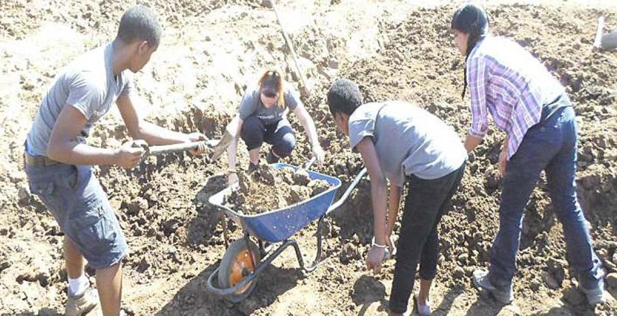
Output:
<svg viewBox="0 0 617 316">
<path fill-rule="evenodd" d="M 30 192 L 47 206 L 62 232 L 94 269 L 114 265 L 128 245 L 91 166 L 25 166 Z"/>
</svg>

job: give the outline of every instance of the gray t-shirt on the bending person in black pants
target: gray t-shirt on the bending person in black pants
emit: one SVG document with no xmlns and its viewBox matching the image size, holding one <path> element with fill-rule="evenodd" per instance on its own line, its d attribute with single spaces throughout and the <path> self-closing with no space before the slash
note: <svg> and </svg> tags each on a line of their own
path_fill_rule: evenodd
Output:
<svg viewBox="0 0 617 316">
<path fill-rule="evenodd" d="M 366 103 L 349 117 L 351 147 L 373 138 L 379 165 L 398 186 L 405 176 L 437 179 L 460 168 L 467 159 L 454 129 L 437 116 L 407 102 Z"/>
</svg>

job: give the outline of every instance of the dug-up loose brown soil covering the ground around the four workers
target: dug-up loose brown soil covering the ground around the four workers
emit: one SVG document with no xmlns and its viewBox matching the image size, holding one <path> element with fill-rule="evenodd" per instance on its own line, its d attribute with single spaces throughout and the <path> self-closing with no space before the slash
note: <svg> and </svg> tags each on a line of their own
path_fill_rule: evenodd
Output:
<svg viewBox="0 0 617 316">
<path fill-rule="evenodd" d="M 242 92 L 264 68 L 292 83 L 294 62 L 274 12 L 261 1 L 140 0 L 159 12 L 162 44 L 136 75 L 140 115 L 176 131 L 219 137 Z M 597 18 L 617 27 L 614 1 L 483 2 L 492 31 L 514 39 L 560 79 L 579 123 L 578 192 L 608 272 L 617 272 L 617 52 L 591 45 Z M 67 62 L 113 38 L 134 1 L 0 1 L 0 314 L 59 315 L 67 299 L 62 232 L 28 191 L 22 144 L 38 105 Z M 354 79 L 366 101 L 416 103 L 463 137 L 469 99 L 461 100 L 463 57 L 448 28 L 455 6 L 445 1 L 277 1 L 310 95 L 302 100 L 318 126 L 326 162 L 315 171 L 341 179 L 343 192 L 362 169 L 336 131 L 325 92 L 337 77 Z M 297 147 L 285 163 L 302 165 L 310 147 L 296 118 Z M 118 147 L 128 139 L 117 110 L 97 124 L 89 142 Z M 545 180 L 532 193 L 521 235 L 515 302 L 500 306 L 473 289 L 471 272 L 487 266 L 499 228 L 497 159 L 503 134 L 492 128 L 471 155 L 453 208 L 442 219 L 439 270 L 431 292 L 437 315 L 615 315 L 617 304 L 589 307 L 569 272 L 563 229 Z M 239 143 L 239 161 L 248 156 Z M 267 148 L 263 148 L 265 156 Z M 324 259 L 311 273 L 284 251 L 260 276 L 251 297 L 231 304 L 207 291 L 225 253 L 220 213 L 206 203 L 226 185 L 225 157 L 167 155 L 139 168 L 96 168 L 117 211 L 130 256 L 124 264 L 123 306 L 135 315 L 386 315 L 394 261 L 379 275 L 366 271 L 372 213 L 363 179 L 325 221 Z M 263 192 L 267 195 L 270 191 Z M 399 215 L 400 217 L 400 215 Z M 398 229 L 399 223 L 395 225 Z M 228 223 L 230 238 L 242 229 Z M 317 225 L 292 238 L 313 258 Z M 88 267 L 87 272 L 94 271 Z M 94 278 L 91 278 L 94 284 Z M 609 290 L 617 294 L 611 275 Z M 410 304 L 410 308 L 412 304 Z M 98 315 L 99 310 L 93 312 Z"/>
</svg>

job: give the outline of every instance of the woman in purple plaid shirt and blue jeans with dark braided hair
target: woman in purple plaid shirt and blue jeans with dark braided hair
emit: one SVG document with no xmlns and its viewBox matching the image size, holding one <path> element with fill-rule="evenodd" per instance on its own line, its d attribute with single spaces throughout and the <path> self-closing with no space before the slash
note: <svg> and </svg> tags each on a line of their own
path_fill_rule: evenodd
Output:
<svg viewBox="0 0 617 316">
<path fill-rule="evenodd" d="M 486 135 L 488 113 L 506 132 L 499 155 L 503 190 L 499 232 L 488 270 L 476 270 L 476 286 L 503 303 L 513 301 L 512 278 L 520 245 L 523 209 L 544 170 L 557 218 L 563 225 L 568 262 L 589 304 L 603 302 L 603 270 L 576 197 L 576 116 L 565 89 L 519 44 L 489 35 L 482 7 L 466 4 L 452 17 L 454 41 L 465 56 L 471 94 L 471 152 Z"/>
</svg>

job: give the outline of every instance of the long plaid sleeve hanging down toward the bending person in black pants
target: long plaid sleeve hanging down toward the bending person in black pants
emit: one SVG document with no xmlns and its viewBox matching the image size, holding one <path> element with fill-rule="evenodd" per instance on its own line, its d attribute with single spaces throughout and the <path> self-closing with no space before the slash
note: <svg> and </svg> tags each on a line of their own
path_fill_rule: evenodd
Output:
<svg viewBox="0 0 617 316">
<path fill-rule="evenodd" d="M 489 129 L 486 105 L 486 64 L 482 57 L 468 61 L 467 82 L 471 94 L 471 136 L 482 138 Z"/>
</svg>

